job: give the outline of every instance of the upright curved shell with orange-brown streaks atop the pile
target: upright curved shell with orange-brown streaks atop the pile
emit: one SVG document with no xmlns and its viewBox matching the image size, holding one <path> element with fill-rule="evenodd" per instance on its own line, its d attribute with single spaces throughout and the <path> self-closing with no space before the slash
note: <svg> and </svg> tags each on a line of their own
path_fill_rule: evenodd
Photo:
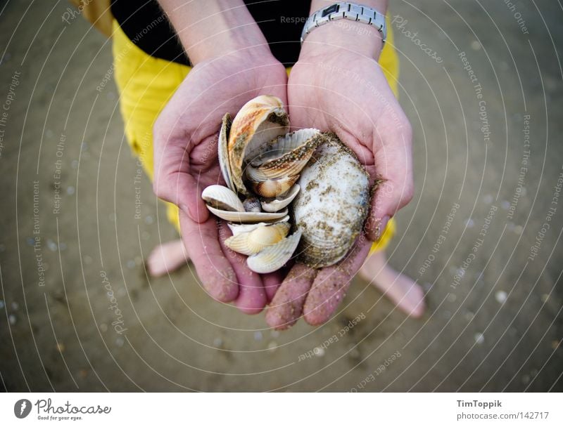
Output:
<svg viewBox="0 0 563 427">
<path fill-rule="evenodd" d="M 268 141 L 289 131 L 289 119 L 281 100 L 262 95 L 248 101 L 236 114 L 229 133 L 229 163 L 231 179 L 236 191 L 244 195 L 243 183 L 246 158 L 254 158 Z"/>
</svg>

